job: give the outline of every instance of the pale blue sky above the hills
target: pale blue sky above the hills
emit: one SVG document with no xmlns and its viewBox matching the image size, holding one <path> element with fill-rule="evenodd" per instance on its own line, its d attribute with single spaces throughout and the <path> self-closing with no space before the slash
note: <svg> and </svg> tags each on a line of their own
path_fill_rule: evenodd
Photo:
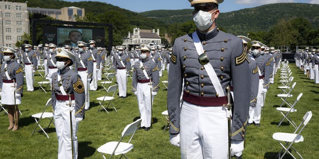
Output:
<svg viewBox="0 0 319 159">
<path fill-rule="evenodd" d="M 66 0 L 87 1 L 87 0 Z M 185 9 L 192 8 L 188 0 L 92 0 L 106 2 L 131 11 L 143 12 L 158 9 Z M 319 0 L 224 0 L 219 5 L 220 12 L 229 12 L 243 8 L 250 8 L 264 4 L 279 2 L 301 2 L 319 4 Z"/>
</svg>

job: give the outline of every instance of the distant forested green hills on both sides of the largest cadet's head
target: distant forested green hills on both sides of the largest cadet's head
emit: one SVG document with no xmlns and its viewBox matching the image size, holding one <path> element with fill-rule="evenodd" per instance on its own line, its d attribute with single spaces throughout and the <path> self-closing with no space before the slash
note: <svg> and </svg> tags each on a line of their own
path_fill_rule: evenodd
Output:
<svg viewBox="0 0 319 159">
<path fill-rule="evenodd" d="M 319 10 L 319 4 L 308 3 L 267 4 L 225 13 L 220 10 L 217 23 L 225 31 L 236 35 L 245 35 L 251 31 L 268 31 L 280 19 L 288 20 L 295 17 L 304 17 L 318 27 L 319 12 L 317 10 Z M 192 20 L 191 12 L 192 9 L 152 10 L 138 14 L 171 24 Z"/>
</svg>

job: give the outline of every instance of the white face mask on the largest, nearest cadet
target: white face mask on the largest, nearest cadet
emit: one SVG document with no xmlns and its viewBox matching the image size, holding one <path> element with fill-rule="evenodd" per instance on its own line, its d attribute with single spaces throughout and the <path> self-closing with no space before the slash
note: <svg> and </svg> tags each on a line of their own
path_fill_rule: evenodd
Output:
<svg viewBox="0 0 319 159">
<path fill-rule="evenodd" d="M 214 23 L 215 18 L 214 20 L 211 20 L 211 15 L 214 12 L 210 13 L 207 11 L 199 10 L 197 13 L 194 14 L 193 20 L 199 30 L 207 30 Z"/>
</svg>

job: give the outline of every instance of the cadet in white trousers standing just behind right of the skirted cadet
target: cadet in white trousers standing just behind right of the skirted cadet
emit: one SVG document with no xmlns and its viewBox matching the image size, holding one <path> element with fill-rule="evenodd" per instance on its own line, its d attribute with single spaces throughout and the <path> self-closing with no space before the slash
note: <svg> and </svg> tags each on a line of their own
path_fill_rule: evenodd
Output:
<svg viewBox="0 0 319 159">
<path fill-rule="evenodd" d="M 32 46 L 29 44 L 25 44 L 25 52 L 23 53 L 23 63 L 24 63 L 24 73 L 25 73 L 25 81 L 26 81 L 26 90 L 33 91 L 33 72 L 36 70 L 37 61 L 36 54 L 31 48 Z"/>
</svg>

